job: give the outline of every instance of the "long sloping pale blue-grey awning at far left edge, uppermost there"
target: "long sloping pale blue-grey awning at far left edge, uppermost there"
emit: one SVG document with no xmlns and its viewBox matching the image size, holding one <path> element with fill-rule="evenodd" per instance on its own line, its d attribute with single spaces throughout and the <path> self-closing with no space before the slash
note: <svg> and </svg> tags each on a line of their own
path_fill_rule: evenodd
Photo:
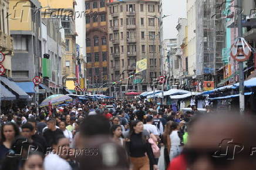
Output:
<svg viewBox="0 0 256 170">
<path fill-rule="evenodd" d="M 7 79 L 6 77 L 0 77 L 2 83 L 5 84 L 5 86 L 8 86 L 9 89 L 13 90 L 16 94 L 18 94 L 19 98 L 29 98 L 29 95 L 25 93 L 24 90 L 22 90 L 14 81 L 11 81 Z"/>
</svg>

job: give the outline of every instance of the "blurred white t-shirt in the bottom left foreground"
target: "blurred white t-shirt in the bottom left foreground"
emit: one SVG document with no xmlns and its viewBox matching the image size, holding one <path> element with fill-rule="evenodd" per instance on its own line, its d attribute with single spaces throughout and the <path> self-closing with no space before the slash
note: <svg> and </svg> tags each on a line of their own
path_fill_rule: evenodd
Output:
<svg viewBox="0 0 256 170">
<path fill-rule="evenodd" d="M 45 170 L 72 170 L 71 166 L 67 161 L 65 161 L 65 159 L 62 159 L 59 155 L 52 153 L 45 157 L 43 166 Z"/>
</svg>

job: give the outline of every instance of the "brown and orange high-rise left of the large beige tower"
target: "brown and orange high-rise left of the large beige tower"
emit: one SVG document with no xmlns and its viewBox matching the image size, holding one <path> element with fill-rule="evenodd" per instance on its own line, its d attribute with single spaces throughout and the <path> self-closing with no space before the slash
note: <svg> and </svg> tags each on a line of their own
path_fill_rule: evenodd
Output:
<svg viewBox="0 0 256 170">
<path fill-rule="evenodd" d="M 85 0 L 87 92 L 109 94 L 109 38 L 106 0 Z M 106 85 L 105 85 L 106 84 Z M 104 86 L 103 86 L 104 85 Z M 103 87 L 99 89 L 99 87 Z"/>
</svg>

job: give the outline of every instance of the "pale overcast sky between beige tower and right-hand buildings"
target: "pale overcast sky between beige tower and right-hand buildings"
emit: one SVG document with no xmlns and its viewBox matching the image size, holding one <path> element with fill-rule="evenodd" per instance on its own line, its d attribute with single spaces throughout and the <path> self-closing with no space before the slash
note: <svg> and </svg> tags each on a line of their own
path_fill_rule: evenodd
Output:
<svg viewBox="0 0 256 170">
<path fill-rule="evenodd" d="M 163 15 L 171 15 L 163 19 L 164 39 L 176 38 L 178 18 L 187 18 L 187 0 L 163 0 Z"/>
</svg>

